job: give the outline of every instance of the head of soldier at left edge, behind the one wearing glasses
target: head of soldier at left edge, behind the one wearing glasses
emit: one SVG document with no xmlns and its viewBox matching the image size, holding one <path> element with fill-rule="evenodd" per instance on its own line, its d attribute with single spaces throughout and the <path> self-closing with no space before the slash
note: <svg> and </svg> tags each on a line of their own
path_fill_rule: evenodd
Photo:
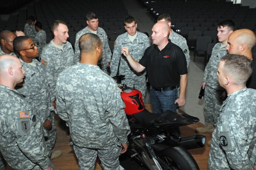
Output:
<svg viewBox="0 0 256 170">
<path fill-rule="evenodd" d="M 16 34 L 9 30 L 3 30 L 0 33 L 0 56 L 1 55 L 11 55 L 11 56 L 16 56 L 14 53 L 13 45 L 12 42 L 14 38 L 16 38 Z"/>
</svg>

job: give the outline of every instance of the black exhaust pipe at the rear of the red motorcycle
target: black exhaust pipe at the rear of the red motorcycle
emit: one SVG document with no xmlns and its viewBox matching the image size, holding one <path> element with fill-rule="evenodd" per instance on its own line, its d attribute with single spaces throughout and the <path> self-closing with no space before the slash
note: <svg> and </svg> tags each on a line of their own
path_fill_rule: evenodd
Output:
<svg viewBox="0 0 256 170">
<path fill-rule="evenodd" d="M 182 140 L 180 141 L 180 144 L 186 150 L 202 148 L 206 144 L 206 136 L 201 134 L 188 136 L 188 137 L 182 138 Z"/>
</svg>

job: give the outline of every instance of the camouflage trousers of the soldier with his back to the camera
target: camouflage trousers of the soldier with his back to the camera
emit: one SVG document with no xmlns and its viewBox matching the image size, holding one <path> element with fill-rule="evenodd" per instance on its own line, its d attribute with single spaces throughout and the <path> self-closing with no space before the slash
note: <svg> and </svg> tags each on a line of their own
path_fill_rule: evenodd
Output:
<svg viewBox="0 0 256 170">
<path fill-rule="evenodd" d="M 94 149 L 73 146 L 78 158 L 79 170 L 94 170 L 97 155 L 99 156 L 104 170 L 119 170 L 119 156 L 122 148 L 117 144 L 108 148 Z"/>
</svg>

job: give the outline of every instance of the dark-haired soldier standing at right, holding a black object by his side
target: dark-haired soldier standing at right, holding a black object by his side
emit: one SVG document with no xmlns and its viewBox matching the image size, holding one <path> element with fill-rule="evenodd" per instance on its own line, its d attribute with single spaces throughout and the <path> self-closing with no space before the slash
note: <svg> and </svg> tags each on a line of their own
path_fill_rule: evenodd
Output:
<svg viewBox="0 0 256 170">
<path fill-rule="evenodd" d="M 212 55 L 206 65 L 203 81 L 200 85 L 200 89 L 205 88 L 204 117 L 206 126 L 196 128 L 197 133 L 213 132 L 214 126 L 216 126 L 217 119 L 220 115 L 220 106 L 225 100 L 225 89 L 220 86 L 216 72 L 220 59 L 222 56 L 227 54 L 227 50 L 225 50 L 225 48 L 228 44 L 228 36 L 234 30 L 234 22 L 231 20 L 224 20 L 218 23 L 217 30 L 219 43 L 217 43 L 212 49 Z M 210 142 L 208 143 L 208 146 L 210 146 Z"/>
</svg>

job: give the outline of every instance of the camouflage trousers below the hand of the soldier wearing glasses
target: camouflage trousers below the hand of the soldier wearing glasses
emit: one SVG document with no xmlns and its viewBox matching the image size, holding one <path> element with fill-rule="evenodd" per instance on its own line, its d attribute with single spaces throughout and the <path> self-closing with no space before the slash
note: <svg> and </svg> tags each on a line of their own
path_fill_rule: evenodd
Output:
<svg viewBox="0 0 256 170">
<path fill-rule="evenodd" d="M 50 117 L 48 117 L 47 119 L 52 122 L 52 129 L 51 130 L 47 130 L 48 136 L 44 137 L 44 139 L 46 141 L 47 149 L 50 151 L 50 154 L 48 156 L 51 157 L 51 155 L 52 155 L 52 148 L 55 145 L 56 134 L 57 134 L 57 130 L 56 130 L 56 127 L 55 127 L 55 122 L 54 122 L 54 112 L 51 112 L 50 113 Z"/>
</svg>

